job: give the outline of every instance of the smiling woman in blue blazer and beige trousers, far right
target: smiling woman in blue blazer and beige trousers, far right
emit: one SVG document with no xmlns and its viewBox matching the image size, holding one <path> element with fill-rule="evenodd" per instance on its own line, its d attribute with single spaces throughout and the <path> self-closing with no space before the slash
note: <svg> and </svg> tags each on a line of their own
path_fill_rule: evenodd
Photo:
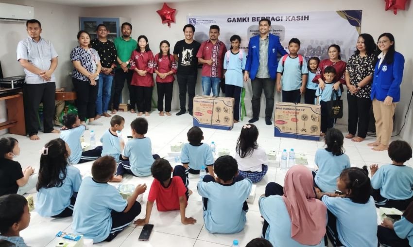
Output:
<svg viewBox="0 0 413 247">
<path fill-rule="evenodd" d="M 375 151 L 387 150 L 393 131 L 393 115 L 400 101 L 404 57 L 395 51 L 395 38 L 390 33 L 379 36 L 378 56 L 374 69 L 371 99 L 376 120 L 376 141 L 367 144 Z"/>
</svg>

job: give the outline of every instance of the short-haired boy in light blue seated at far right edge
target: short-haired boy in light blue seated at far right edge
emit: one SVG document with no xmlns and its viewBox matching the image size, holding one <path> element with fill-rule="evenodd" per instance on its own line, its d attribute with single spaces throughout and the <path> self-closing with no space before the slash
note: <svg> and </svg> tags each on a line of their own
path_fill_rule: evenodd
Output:
<svg viewBox="0 0 413 247">
<path fill-rule="evenodd" d="M 392 141 L 388 154 L 391 164 L 370 166 L 372 195 L 376 207 L 404 211 L 413 201 L 413 168 L 404 165 L 412 158 L 412 148 L 406 141 Z"/>
</svg>

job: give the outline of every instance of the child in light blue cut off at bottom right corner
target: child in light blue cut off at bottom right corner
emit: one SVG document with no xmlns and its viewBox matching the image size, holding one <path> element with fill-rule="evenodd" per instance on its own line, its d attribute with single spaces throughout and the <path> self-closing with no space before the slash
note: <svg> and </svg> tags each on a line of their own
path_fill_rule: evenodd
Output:
<svg viewBox="0 0 413 247">
<path fill-rule="evenodd" d="M 377 229 L 379 243 L 388 247 L 413 246 L 413 202 L 395 223 L 385 218 Z"/>
</svg>

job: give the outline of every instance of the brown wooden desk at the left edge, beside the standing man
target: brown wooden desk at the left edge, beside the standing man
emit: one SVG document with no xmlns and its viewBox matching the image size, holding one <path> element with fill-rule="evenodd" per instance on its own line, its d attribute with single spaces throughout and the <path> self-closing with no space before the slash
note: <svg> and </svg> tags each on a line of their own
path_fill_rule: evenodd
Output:
<svg viewBox="0 0 413 247">
<path fill-rule="evenodd" d="M 25 136 L 22 89 L 0 88 L 0 100 L 6 101 L 7 110 L 7 121 L 0 123 L 0 130 L 8 128 L 10 134 Z"/>
</svg>

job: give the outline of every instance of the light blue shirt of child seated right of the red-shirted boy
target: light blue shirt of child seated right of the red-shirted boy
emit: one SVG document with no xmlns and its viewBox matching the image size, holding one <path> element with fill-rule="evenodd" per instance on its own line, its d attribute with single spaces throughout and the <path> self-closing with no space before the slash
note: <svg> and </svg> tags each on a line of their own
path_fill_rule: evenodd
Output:
<svg viewBox="0 0 413 247">
<path fill-rule="evenodd" d="M 204 211 L 205 228 L 210 233 L 232 234 L 244 229 L 246 212 L 244 201 L 251 192 L 252 182 L 245 178 L 223 185 L 217 182 L 198 182 L 198 193 L 208 198 Z"/>
</svg>

